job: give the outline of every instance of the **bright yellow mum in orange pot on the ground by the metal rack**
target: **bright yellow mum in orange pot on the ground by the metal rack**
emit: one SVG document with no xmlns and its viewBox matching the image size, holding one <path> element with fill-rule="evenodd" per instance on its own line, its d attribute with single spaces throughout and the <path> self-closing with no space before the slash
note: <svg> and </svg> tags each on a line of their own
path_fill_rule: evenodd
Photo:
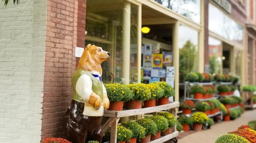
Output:
<svg viewBox="0 0 256 143">
<path fill-rule="evenodd" d="M 196 130 L 196 131 L 201 131 L 203 124 L 206 123 L 206 121 L 209 120 L 207 115 L 203 112 L 193 113 L 192 114 L 192 119 L 194 120 L 193 130 Z"/>
</svg>

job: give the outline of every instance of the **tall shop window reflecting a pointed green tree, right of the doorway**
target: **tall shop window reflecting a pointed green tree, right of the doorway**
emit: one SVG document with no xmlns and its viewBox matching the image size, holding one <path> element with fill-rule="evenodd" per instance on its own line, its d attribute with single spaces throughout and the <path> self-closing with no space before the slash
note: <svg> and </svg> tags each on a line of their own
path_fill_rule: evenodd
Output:
<svg viewBox="0 0 256 143">
<path fill-rule="evenodd" d="M 198 31 L 184 25 L 179 26 L 179 49 L 180 49 L 180 80 L 191 71 L 197 71 L 198 59 Z"/>
</svg>

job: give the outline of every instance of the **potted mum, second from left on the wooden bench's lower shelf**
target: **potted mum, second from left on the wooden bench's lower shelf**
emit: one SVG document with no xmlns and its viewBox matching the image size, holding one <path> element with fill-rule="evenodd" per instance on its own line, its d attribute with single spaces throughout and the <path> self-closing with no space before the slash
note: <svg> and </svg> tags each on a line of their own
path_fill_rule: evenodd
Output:
<svg viewBox="0 0 256 143">
<path fill-rule="evenodd" d="M 140 141 L 141 138 L 145 137 L 146 132 L 144 127 L 139 125 L 136 121 L 127 121 L 121 123 L 125 128 L 131 130 L 133 132 L 133 135 L 130 139 L 130 141 L 126 141 L 126 143 L 136 143 L 136 140 L 138 139 Z"/>
</svg>

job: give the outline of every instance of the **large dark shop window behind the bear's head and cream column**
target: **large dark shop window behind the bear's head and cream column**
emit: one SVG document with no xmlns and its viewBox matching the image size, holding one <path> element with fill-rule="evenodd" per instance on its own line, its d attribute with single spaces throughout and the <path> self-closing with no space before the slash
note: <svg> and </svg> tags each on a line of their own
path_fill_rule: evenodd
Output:
<svg viewBox="0 0 256 143">
<path fill-rule="evenodd" d="M 127 10 L 124 8 L 128 6 Z M 125 9 L 125 10 L 124 10 Z M 91 43 L 102 47 L 103 50 L 111 52 L 109 60 L 101 64 L 103 73 L 102 81 L 104 83 L 122 83 L 124 78 L 122 75 L 122 48 L 123 39 L 123 13 L 129 12 L 130 32 L 130 78 L 129 83 L 137 82 L 137 13 L 138 6 L 132 3 L 124 3 L 122 0 L 92 0 L 87 1 L 86 9 L 86 32 L 85 45 Z M 126 17 L 127 20 L 127 17 Z"/>
</svg>

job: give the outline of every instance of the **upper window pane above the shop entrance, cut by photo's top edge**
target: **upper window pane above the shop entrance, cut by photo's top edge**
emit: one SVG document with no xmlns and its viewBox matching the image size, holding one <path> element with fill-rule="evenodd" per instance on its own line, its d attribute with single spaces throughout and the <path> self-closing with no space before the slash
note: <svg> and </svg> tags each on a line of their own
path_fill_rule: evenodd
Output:
<svg viewBox="0 0 256 143">
<path fill-rule="evenodd" d="M 201 0 L 153 0 L 200 24 Z"/>
</svg>

